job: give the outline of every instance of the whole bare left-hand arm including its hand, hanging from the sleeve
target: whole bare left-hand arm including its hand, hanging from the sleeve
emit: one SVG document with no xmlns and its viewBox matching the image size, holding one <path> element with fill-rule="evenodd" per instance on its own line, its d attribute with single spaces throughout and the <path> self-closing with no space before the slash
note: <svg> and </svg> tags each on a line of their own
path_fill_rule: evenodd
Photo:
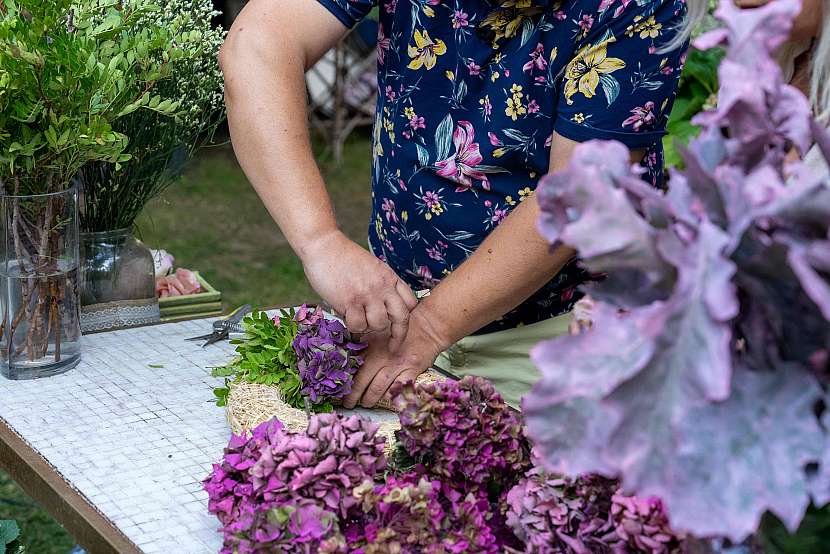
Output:
<svg viewBox="0 0 830 554">
<path fill-rule="evenodd" d="M 305 71 L 346 33 L 315 0 L 253 0 L 222 48 L 234 151 L 311 286 L 354 332 L 406 335 L 412 292 L 337 228 L 314 162 Z M 368 187 L 368 183 L 367 183 Z"/>
</svg>

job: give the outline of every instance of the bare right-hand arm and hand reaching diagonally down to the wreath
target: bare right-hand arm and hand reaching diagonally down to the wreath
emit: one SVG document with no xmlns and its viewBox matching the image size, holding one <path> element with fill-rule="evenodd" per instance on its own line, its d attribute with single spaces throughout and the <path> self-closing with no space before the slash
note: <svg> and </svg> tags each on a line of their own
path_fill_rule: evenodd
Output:
<svg viewBox="0 0 830 554">
<path fill-rule="evenodd" d="M 550 172 L 564 169 L 578 143 L 554 134 Z M 632 159 L 642 152 L 632 154 Z M 536 230 L 535 196 L 522 202 L 461 266 L 412 311 L 409 333 L 398 351 L 370 344 L 366 362 L 344 401 L 374 406 L 395 380 L 414 379 L 439 353 L 509 312 L 550 281 L 575 255 L 551 249 Z"/>
</svg>

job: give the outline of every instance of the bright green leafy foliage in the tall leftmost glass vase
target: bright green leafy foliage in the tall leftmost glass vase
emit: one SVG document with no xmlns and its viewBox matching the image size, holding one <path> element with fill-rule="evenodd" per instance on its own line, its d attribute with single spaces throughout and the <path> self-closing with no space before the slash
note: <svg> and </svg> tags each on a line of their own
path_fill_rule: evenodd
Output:
<svg viewBox="0 0 830 554">
<path fill-rule="evenodd" d="M 65 188 L 90 160 L 121 164 L 113 123 L 137 110 L 175 116 L 157 93 L 182 48 L 141 25 L 146 0 L 0 0 L 0 179 L 15 191 Z"/>
</svg>

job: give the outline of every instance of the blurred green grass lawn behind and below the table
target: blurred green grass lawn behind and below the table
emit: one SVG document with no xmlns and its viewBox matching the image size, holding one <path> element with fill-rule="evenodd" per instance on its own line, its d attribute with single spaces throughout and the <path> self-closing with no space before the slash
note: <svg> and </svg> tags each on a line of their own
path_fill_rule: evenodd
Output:
<svg viewBox="0 0 830 554">
<path fill-rule="evenodd" d="M 343 230 L 366 242 L 371 212 L 368 136 L 345 147 L 343 163 L 320 165 Z M 291 200 L 286 198 L 286 202 Z M 225 307 L 299 303 L 316 299 L 300 262 L 257 198 L 229 145 L 205 150 L 181 183 L 145 210 L 139 235 L 164 248 L 176 265 L 199 270 L 222 291 Z M 217 445 L 217 455 L 221 445 Z M 69 534 L 0 471 L 0 519 L 15 519 L 29 554 L 66 554 Z"/>
</svg>

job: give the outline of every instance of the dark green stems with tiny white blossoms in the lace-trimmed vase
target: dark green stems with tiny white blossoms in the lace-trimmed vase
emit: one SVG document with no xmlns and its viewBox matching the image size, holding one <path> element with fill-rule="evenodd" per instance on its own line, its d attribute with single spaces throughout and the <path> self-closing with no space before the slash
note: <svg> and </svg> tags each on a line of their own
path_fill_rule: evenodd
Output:
<svg viewBox="0 0 830 554">
<path fill-rule="evenodd" d="M 81 229 L 89 232 L 131 227 L 144 206 L 173 184 L 185 162 L 208 144 L 225 118 L 219 48 L 225 32 L 212 26 L 218 12 L 211 0 L 157 0 L 161 13 L 141 18 L 146 26 L 167 29 L 181 47 L 171 60 L 171 77 L 159 84 L 159 94 L 176 98 L 176 117 L 138 110 L 119 119 L 114 128 L 130 138 L 128 162 L 120 169 L 95 161 L 80 174 L 84 202 Z"/>
</svg>

